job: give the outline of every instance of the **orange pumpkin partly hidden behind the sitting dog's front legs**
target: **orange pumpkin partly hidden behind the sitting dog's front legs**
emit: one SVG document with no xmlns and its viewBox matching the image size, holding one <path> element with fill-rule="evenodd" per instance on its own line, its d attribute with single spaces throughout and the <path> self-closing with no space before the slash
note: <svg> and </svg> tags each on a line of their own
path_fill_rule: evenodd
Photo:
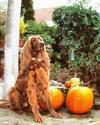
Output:
<svg viewBox="0 0 100 125">
<path fill-rule="evenodd" d="M 50 88 L 49 94 L 50 94 L 50 102 L 52 107 L 54 109 L 59 109 L 64 103 L 63 92 L 57 88 Z M 45 103 L 43 103 L 42 101 L 39 101 L 39 106 L 41 109 L 47 110 Z"/>
</svg>

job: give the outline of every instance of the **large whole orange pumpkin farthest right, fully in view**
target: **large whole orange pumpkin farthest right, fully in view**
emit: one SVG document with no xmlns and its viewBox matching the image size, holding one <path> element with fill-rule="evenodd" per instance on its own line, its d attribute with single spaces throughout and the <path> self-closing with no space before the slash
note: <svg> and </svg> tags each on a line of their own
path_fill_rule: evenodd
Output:
<svg viewBox="0 0 100 125">
<path fill-rule="evenodd" d="M 71 88 L 66 96 L 66 107 L 72 113 L 89 112 L 93 106 L 93 92 L 88 87 Z"/>
</svg>

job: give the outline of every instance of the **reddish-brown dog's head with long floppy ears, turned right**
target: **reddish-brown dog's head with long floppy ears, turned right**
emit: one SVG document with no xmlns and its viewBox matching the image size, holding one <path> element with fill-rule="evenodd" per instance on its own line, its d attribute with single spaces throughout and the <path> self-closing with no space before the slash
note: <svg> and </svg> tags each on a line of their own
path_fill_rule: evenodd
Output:
<svg viewBox="0 0 100 125">
<path fill-rule="evenodd" d="M 48 54 L 43 39 L 39 35 L 29 37 L 22 48 L 20 55 L 20 68 L 22 72 L 29 66 L 33 58 L 48 61 Z"/>
</svg>

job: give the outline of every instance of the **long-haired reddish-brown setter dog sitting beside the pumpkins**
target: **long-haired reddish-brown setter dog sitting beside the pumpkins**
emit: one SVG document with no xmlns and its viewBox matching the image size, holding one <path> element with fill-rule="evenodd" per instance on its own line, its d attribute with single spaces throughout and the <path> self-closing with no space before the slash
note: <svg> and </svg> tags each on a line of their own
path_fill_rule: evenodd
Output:
<svg viewBox="0 0 100 125">
<path fill-rule="evenodd" d="M 50 60 L 42 38 L 39 35 L 29 37 L 21 51 L 20 71 L 15 87 L 9 93 L 12 110 L 31 110 L 35 121 L 42 122 L 38 106 L 41 100 L 53 117 L 60 117 L 50 104 L 49 65 Z"/>
</svg>

